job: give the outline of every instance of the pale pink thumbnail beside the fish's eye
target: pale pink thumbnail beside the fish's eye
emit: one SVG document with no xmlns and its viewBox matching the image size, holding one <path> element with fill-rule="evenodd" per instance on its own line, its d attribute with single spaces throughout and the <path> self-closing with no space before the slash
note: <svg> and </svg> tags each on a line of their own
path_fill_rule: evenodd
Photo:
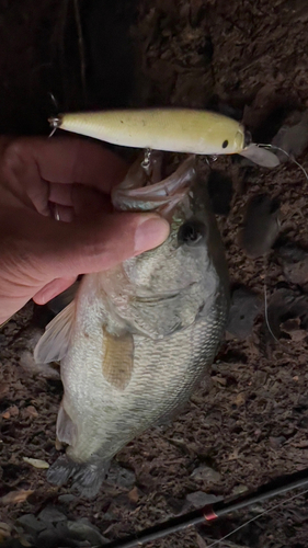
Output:
<svg viewBox="0 0 308 548">
<path fill-rule="evenodd" d="M 147 217 L 135 232 L 135 252 L 140 253 L 160 246 L 169 236 L 169 222 L 161 217 Z"/>
</svg>

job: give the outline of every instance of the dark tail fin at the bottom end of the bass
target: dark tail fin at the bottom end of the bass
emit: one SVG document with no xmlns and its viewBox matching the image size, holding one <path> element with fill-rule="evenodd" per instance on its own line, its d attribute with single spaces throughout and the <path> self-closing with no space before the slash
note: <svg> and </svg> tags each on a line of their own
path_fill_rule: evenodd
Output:
<svg viewBox="0 0 308 548">
<path fill-rule="evenodd" d="M 67 455 L 62 455 L 48 469 L 47 480 L 56 486 L 62 486 L 71 478 L 72 489 L 77 489 L 81 496 L 92 499 L 100 491 L 109 466 L 110 463 L 98 457 L 88 463 L 78 464 Z"/>
</svg>

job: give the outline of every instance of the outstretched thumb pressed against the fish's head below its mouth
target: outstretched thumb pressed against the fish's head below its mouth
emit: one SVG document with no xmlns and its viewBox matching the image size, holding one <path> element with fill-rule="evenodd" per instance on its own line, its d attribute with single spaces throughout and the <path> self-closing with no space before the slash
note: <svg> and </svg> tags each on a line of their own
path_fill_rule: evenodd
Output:
<svg viewBox="0 0 308 548">
<path fill-rule="evenodd" d="M 82 222 L 44 221 L 36 254 L 46 283 L 112 269 L 159 246 L 170 230 L 169 224 L 153 214 L 115 213 Z"/>
</svg>

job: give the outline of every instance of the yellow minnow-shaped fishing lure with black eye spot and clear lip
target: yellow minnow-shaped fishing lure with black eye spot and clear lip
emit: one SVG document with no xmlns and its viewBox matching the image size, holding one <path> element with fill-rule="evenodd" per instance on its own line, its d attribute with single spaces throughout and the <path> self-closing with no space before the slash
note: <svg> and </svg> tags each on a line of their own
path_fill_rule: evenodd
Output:
<svg viewBox="0 0 308 548">
<path fill-rule="evenodd" d="M 140 109 L 65 113 L 49 118 L 53 133 L 72 132 L 113 145 L 192 155 L 241 155 L 274 168 L 277 157 L 251 142 L 242 124 L 194 109 Z"/>
</svg>

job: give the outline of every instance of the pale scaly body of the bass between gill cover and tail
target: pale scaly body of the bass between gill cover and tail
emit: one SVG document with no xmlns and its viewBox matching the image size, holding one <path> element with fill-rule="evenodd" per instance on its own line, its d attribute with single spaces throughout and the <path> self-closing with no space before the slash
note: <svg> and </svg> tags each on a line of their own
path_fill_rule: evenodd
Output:
<svg viewBox="0 0 308 548">
<path fill-rule="evenodd" d="M 215 357 L 226 310 L 221 295 L 206 318 L 186 329 L 158 340 L 134 335 L 134 367 L 124 390 L 103 375 L 102 324 L 93 329 L 94 336 L 79 332 L 61 364 L 64 408 L 76 425 L 69 457 L 80 464 L 93 456 L 106 463 L 185 402 Z"/>
</svg>

